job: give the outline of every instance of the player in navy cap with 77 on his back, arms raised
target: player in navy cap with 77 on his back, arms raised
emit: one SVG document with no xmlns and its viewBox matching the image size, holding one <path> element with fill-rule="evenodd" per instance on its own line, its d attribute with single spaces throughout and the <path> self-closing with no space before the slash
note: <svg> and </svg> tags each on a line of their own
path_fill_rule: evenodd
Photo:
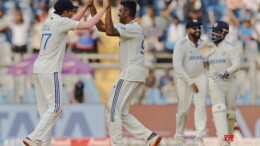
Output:
<svg viewBox="0 0 260 146">
<path fill-rule="evenodd" d="M 105 5 L 87 22 L 80 21 L 91 3 L 90 0 L 73 16 L 77 7 L 69 0 L 59 0 L 54 5 L 55 12 L 43 24 L 41 50 L 33 68 L 40 121 L 34 131 L 23 140 L 26 146 L 51 145 L 51 128 L 63 108 L 61 69 L 68 31 L 90 29 L 100 20 L 108 7 Z"/>
</svg>

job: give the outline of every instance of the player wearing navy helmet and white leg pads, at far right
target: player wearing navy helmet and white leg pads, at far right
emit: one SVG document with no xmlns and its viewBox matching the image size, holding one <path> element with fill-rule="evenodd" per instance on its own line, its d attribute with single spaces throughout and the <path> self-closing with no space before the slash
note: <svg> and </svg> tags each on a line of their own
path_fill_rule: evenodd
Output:
<svg viewBox="0 0 260 146">
<path fill-rule="evenodd" d="M 213 53 L 208 57 L 209 93 L 212 100 L 212 112 L 219 144 L 230 145 L 224 141 L 224 135 L 232 134 L 236 121 L 237 82 L 236 71 L 240 66 L 240 54 L 237 48 L 225 40 L 229 26 L 224 21 L 216 21 L 212 26 L 210 38 L 213 41 Z"/>
</svg>

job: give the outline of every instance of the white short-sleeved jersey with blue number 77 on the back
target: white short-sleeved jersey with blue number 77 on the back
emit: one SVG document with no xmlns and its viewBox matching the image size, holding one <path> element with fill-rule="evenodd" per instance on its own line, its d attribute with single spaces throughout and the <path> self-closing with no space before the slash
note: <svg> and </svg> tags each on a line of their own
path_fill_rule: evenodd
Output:
<svg viewBox="0 0 260 146">
<path fill-rule="evenodd" d="M 60 72 L 68 40 L 68 31 L 75 30 L 79 21 L 52 14 L 42 27 L 41 50 L 34 63 L 33 73 Z"/>
</svg>

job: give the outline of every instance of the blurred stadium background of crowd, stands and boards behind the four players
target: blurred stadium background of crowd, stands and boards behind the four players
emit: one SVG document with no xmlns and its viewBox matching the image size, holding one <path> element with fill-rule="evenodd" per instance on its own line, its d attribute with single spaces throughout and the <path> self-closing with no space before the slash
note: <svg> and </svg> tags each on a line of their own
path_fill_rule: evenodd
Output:
<svg viewBox="0 0 260 146">
<path fill-rule="evenodd" d="M 83 5 L 84 0 L 73 0 Z M 94 0 L 96 7 L 102 0 Z M 137 0 L 137 17 L 145 32 L 146 86 L 133 101 L 131 113 L 171 145 L 175 131 L 177 94 L 172 69 L 174 43 L 186 35 L 185 23 L 203 22 L 203 39 L 214 20 L 230 25 L 228 40 L 241 52 L 237 73 L 237 126 L 233 145 L 260 146 L 259 87 L 259 0 Z M 53 11 L 54 0 L 0 1 L 0 145 L 18 146 L 38 121 L 31 79 L 34 56 L 39 51 L 41 24 Z M 116 23 L 120 0 L 112 0 Z M 84 19 L 89 19 L 86 13 Z M 104 18 L 103 18 L 104 19 Z M 96 28 L 70 33 L 64 61 L 66 105 L 53 128 L 53 145 L 109 145 L 105 126 L 105 103 L 119 74 L 118 38 L 107 37 Z M 84 68 L 81 69 L 81 68 Z M 205 143 L 217 145 L 212 123 L 211 101 L 207 98 L 208 123 Z M 193 107 L 186 129 L 194 137 Z M 125 131 L 125 142 L 142 145 Z"/>
</svg>

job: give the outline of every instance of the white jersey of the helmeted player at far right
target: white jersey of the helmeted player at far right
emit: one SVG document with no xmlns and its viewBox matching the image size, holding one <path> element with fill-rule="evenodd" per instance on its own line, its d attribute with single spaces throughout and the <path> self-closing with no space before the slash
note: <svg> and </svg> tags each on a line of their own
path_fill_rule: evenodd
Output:
<svg viewBox="0 0 260 146">
<path fill-rule="evenodd" d="M 227 70 L 229 79 L 235 78 L 235 72 L 240 66 L 239 50 L 232 43 L 224 40 L 218 46 L 214 46 L 214 53 L 208 58 L 209 73 L 222 72 Z"/>
</svg>

